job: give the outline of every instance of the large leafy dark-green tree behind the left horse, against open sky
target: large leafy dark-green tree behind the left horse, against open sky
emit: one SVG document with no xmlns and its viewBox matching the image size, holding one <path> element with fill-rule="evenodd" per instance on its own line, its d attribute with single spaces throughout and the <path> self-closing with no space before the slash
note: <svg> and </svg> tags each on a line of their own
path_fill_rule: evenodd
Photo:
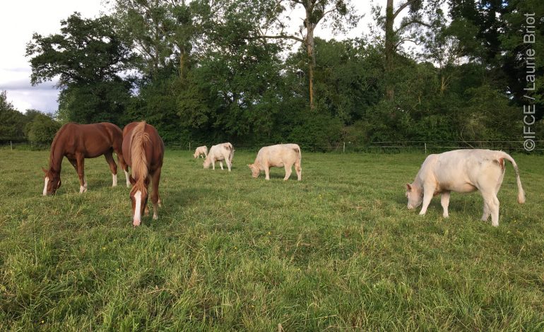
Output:
<svg viewBox="0 0 544 332">
<path fill-rule="evenodd" d="M 119 123 L 130 95 L 131 86 L 121 75 L 134 66 L 131 48 L 108 16 L 84 19 L 73 13 L 61 25 L 60 34 L 36 33 L 28 43 L 31 83 L 59 77 L 59 116 L 64 121 Z"/>
</svg>

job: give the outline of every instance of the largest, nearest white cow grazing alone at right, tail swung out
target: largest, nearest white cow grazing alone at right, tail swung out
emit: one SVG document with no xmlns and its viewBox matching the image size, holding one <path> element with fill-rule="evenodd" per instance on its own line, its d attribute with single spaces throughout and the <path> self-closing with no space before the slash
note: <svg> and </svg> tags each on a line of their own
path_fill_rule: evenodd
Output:
<svg viewBox="0 0 544 332">
<path fill-rule="evenodd" d="M 444 218 L 448 217 L 449 193 L 469 193 L 479 190 L 483 196 L 482 220 L 491 215 L 491 225 L 499 225 L 499 192 L 504 177 L 505 162 L 512 162 L 516 171 L 518 203 L 525 203 L 524 189 L 519 179 L 518 165 L 502 151 L 453 150 L 439 155 L 429 155 L 421 165 L 412 184 L 406 184 L 408 209 L 413 210 L 423 202 L 420 215 L 427 212 L 432 196 L 442 194 L 440 202 Z"/>
</svg>

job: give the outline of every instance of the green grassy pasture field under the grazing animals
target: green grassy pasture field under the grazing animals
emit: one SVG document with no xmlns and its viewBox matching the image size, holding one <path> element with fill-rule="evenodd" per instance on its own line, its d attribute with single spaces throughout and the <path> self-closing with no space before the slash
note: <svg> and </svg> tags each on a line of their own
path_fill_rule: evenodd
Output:
<svg viewBox="0 0 544 332">
<path fill-rule="evenodd" d="M 499 227 L 479 194 L 408 211 L 421 153 L 302 151 L 252 179 L 167 150 L 159 220 L 131 225 L 104 158 L 43 197 L 48 151 L 0 150 L 0 331 L 544 331 L 544 157 L 514 155 Z"/>
</svg>

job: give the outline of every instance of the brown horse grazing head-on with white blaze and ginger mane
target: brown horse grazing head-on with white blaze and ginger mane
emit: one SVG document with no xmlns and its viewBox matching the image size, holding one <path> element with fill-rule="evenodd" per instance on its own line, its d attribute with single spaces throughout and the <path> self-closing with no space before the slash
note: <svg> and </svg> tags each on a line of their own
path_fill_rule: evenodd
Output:
<svg viewBox="0 0 544 332">
<path fill-rule="evenodd" d="M 165 154 L 165 144 L 162 143 L 157 129 L 146 121 L 132 122 L 123 129 L 123 155 L 132 170 L 130 191 L 132 202 L 132 225 L 141 223 L 141 215 L 149 214 L 148 186 L 153 181 L 151 203 L 153 203 L 153 219 L 157 219 L 160 206 L 159 181 L 162 157 Z"/>
</svg>

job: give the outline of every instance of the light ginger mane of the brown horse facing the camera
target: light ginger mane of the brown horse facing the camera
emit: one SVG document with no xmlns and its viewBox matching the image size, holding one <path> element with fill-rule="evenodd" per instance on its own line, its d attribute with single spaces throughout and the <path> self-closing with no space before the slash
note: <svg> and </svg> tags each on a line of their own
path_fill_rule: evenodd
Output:
<svg viewBox="0 0 544 332">
<path fill-rule="evenodd" d="M 146 121 L 141 121 L 134 127 L 131 138 L 132 177 L 136 180 L 134 188 L 141 191 L 146 190 L 143 182 L 147 179 L 149 172 L 146 144 L 150 142 L 150 138 L 145 129 Z"/>
</svg>

